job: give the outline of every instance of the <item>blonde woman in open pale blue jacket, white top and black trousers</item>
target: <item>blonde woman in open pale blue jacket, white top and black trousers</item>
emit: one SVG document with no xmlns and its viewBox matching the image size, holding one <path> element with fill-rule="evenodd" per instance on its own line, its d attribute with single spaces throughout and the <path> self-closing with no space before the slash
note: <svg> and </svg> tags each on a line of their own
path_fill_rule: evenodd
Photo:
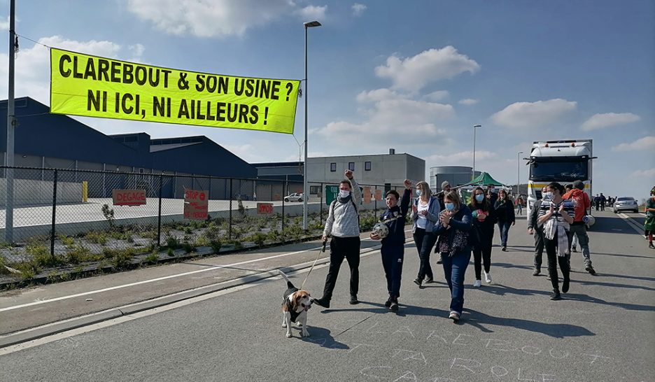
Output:
<svg viewBox="0 0 655 382">
<path fill-rule="evenodd" d="M 416 200 L 411 207 L 411 220 L 414 225 L 411 227 L 411 233 L 414 236 L 416 250 L 418 250 L 418 259 L 421 265 L 418 267 L 418 275 L 414 283 L 421 287 L 423 279 L 425 283 L 432 283 L 435 275 L 432 274 L 430 267 L 430 252 L 437 242 L 437 235 L 432 233 L 435 223 L 439 222 L 439 199 L 432 196 L 430 186 L 425 182 L 416 183 Z"/>
</svg>

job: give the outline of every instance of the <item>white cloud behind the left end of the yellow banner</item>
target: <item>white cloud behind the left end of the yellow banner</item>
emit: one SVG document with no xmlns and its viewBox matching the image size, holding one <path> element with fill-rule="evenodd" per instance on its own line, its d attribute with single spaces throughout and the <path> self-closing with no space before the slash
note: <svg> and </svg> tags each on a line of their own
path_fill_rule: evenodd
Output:
<svg viewBox="0 0 655 382">
<path fill-rule="evenodd" d="M 142 48 L 141 50 L 135 48 L 129 52 L 125 51 L 121 45 L 111 41 L 73 41 L 61 36 L 39 38 L 38 42 L 55 48 L 109 58 L 120 58 L 120 55 L 125 54 L 132 55 L 134 59 L 140 59 L 143 52 Z M 50 52 L 43 45 L 36 44 L 31 48 L 21 48 L 18 52 L 15 69 L 15 94 L 16 97 L 29 96 L 47 105 L 50 104 Z M 1 54 L 0 62 L 0 94 L 4 94 L 2 97 L 6 98 L 8 56 Z"/>
</svg>

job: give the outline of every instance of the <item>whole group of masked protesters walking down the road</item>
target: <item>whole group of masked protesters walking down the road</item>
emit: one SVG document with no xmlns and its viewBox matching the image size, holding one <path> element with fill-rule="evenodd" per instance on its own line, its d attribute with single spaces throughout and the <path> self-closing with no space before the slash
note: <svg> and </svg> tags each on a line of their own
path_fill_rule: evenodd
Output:
<svg viewBox="0 0 655 382">
<path fill-rule="evenodd" d="M 350 303 L 359 303 L 358 208 L 362 198 L 353 172 L 346 171 L 345 175 L 346 179 L 339 185 L 339 197 L 330 205 L 323 231 L 324 241 L 330 237 L 330 268 L 323 297 L 315 302 L 325 308 L 330 307 L 334 284 L 344 258 L 351 269 Z M 494 185 L 488 185 L 486 189 L 474 188 L 468 204 L 448 182 L 442 183 L 442 190 L 437 194 L 432 194 L 428 183 L 418 182 L 414 201 L 411 201 L 412 184 L 409 180 L 404 181 L 404 188 L 402 195 L 395 190 L 386 192 L 387 208 L 379 216 L 379 222 L 386 226 L 385 232 L 374 230 L 370 235 L 371 239 L 381 240 L 382 244 L 381 260 L 388 292 L 385 306 L 391 311 L 399 309 L 404 225 L 406 219 L 411 219 L 411 233 L 419 259 L 414 283 L 418 288 L 423 288 L 424 283 L 435 282 L 435 271 L 430 266 L 430 255 L 432 248 L 435 248 L 435 253 L 439 255 L 437 264 L 442 264 L 444 278 L 451 291 L 449 318 L 457 321 L 463 312 L 464 280 L 470 258 L 473 257 L 474 264 L 473 287 L 481 287 L 483 270 L 485 283 L 492 283 L 491 254 L 495 227 L 498 225 L 500 249 L 505 251 L 509 229 L 516 225 L 514 203 L 506 190 L 500 189 L 497 192 Z M 542 189 L 540 196 L 533 208 L 530 208 L 527 218 L 528 234 L 535 238 L 533 276 L 541 274 L 545 250 L 548 278 L 552 287 L 550 298 L 558 300 L 561 299 L 561 293 L 568 292 L 570 288 L 570 255 L 574 238 L 582 250 L 585 270 L 591 275 L 596 274 L 591 264 L 589 236 L 586 233 L 591 200 L 584 192 L 582 181 L 575 181 L 566 188 L 560 183 L 550 183 Z M 517 198 L 516 201 L 522 204 L 522 199 Z M 602 205 L 601 201 L 599 203 Z M 655 232 L 655 188 L 651 190 L 645 211 L 649 246 L 655 248 L 652 244 Z M 558 267 L 563 278 L 561 288 Z"/>
</svg>

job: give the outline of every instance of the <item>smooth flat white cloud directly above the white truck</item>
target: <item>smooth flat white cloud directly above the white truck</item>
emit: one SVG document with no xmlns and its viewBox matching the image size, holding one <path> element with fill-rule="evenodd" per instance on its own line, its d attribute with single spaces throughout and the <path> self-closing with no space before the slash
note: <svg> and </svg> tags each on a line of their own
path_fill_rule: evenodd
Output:
<svg viewBox="0 0 655 382">
<path fill-rule="evenodd" d="M 577 102 L 566 99 L 549 99 L 536 102 L 515 102 L 491 115 L 496 125 L 513 128 L 542 127 L 560 120 L 575 111 Z"/>
</svg>

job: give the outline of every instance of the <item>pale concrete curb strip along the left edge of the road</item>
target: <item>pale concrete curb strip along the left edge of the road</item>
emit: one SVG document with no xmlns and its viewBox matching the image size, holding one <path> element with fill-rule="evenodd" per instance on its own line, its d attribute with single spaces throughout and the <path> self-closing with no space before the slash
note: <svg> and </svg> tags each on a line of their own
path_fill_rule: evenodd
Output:
<svg viewBox="0 0 655 382">
<path fill-rule="evenodd" d="M 379 250 L 380 248 L 381 245 L 377 245 L 370 248 L 364 248 L 360 250 L 360 255 L 367 255 L 369 253 L 373 253 L 374 251 Z M 327 262 L 330 262 L 330 257 L 319 259 L 316 262 L 316 265 L 326 264 Z M 174 294 L 157 297 L 155 299 L 149 299 L 142 302 L 136 302 L 134 304 L 128 304 L 125 306 L 119 306 L 117 308 L 107 309 L 105 311 L 99 311 L 97 313 L 91 313 L 86 316 L 69 318 L 68 320 L 64 320 L 64 321 L 49 323 L 46 325 L 33 327 L 27 330 L 22 330 L 20 332 L 5 334 L 3 336 L 0 336 L 0 348 L 22 344 L 23 342 L 33 341 L 35 339 L 48 337 L 51 336 L 52 334 L 66 332 L 69 330 L 76 329 L 78 327 L 92 325 L 94 323 L 99 323 L 101 321 L 112 320 L 114 318 L 119 318 L 121 316 L 128 316 L 133 313 L 147 311 L 149 309 L 155 309 L 160 306 L 166 306 L 169 304 L 174 304 L 176 302 L 181 302 L 185 299 L 192 299 L 194 297 L 199 297 L 202 295 L 209 295 L 210 293 L 218 292 L 220 290 L 234 288 L 239 285 L 253 283 L 255 281 L 264 280 L 266 278 L 272 278 L 274 276 L 279 276 L 278 270 L 283 271 L 286 274 L 291 274 L 295 271 L 307 269 L 311 267 L 311 264 L 314 264 L 314 262 L 304 262 L 302 264 L 291 265 L 289 267 L 281 267 L 281 268 L 271 269 L 269 271 L 262 271 L 258 274 L 251 274 L 240 278 L 234 278 L 232 280 L 223 281 L 217 284 L 205 285 L 199 288 L 194 288 L 192 290 L 184 290 L 182 292 L 176 292 Z"/>
</svg>

